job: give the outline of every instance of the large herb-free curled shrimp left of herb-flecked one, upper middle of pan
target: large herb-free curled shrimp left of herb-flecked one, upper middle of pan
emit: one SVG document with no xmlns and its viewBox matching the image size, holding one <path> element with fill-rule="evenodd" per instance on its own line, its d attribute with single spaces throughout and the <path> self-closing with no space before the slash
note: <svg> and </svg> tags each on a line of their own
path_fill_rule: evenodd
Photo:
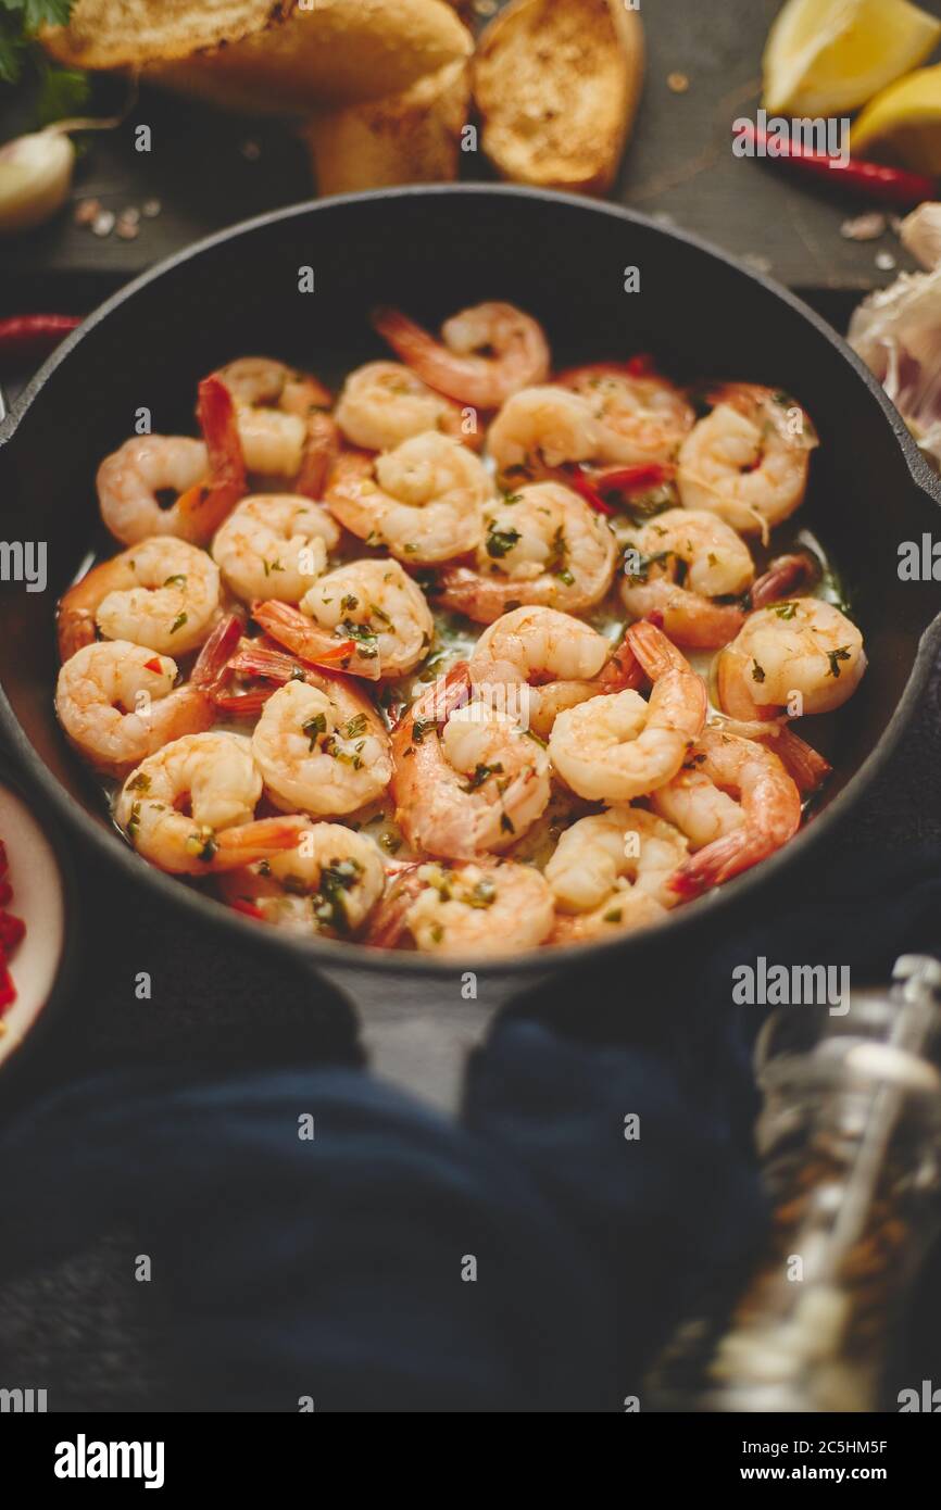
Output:
<svg viewBox="0 0 941 1510">
<path fill-rule="evenodd" d="M 429 430 L 381 456 L 344 451 L 325 501 L 367 545 L 424 566 L 477 548 L 482 506 L 492 497 L 483 464 L 465 445 Z"/>
</svg>

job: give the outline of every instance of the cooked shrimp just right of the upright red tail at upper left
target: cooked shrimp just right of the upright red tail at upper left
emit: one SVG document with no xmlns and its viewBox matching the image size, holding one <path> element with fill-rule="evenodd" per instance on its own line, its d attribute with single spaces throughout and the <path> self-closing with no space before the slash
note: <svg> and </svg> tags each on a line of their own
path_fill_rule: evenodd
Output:
<svg viewBox="0 0 941 1510">
<path fill-rule="evenodd" d="M 338 451 L 329 390 L 267 356 L 240 356 L 214 376 L 236 402 L 249 471 L 293 479 L 295 492 L 319 498 Z"/>
</svg>

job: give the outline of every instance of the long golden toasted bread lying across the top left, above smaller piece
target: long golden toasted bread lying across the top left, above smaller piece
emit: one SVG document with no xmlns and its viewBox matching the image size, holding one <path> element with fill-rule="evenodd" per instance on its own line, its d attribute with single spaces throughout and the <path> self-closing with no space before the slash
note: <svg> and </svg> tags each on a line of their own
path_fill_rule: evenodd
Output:
<svg viewBox="0 0 941 1510">
<path fill-rule="evenodd" d="M 266 115 L 408 89 L 473 47 L 444 0 L 77 0 L 44 42 L 63 62 Z"/>
</svg>

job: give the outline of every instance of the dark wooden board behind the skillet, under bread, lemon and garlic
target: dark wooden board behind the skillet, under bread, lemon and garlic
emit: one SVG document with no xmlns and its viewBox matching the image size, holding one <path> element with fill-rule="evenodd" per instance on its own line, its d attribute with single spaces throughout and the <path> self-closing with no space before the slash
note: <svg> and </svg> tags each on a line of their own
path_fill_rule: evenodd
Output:
<svg viewBox="0 0 941 1510">
<path fill-rule="evenodd" d="M 559 0 L 563 3 L 563 0 Z M 923 0 L 941 14 L 941 0 Z M 840 225 L 853 202 L 837 201 L 781 163 L 740 160 L 731 151 L 731 121 L 758 103 L 760 59 L 778 0 L 642 0 L 648 68 L 634 136 L 615 198 L 669 217 L 707 240 L 752 260 L 785 284 L 852 302 L 891 281 L 876 255 L 890 251 L 906 266 L 896 237 L 850 242 Z M 677 94 L 668 76 L 689 89 Z M 113 103 L 106 88 L 103 104 Z M 0 98 L 0 139 L 14 134 L 29 109 Z M 151 128 L 153 149 L 134 149 L 136 127 Z M 467 156 L 468 177 L 486 166 Z M 162 214 L 134 242 L 98 239 L 71 213 L 27 237 L 0 243 L 0 314 L 38 304 L 86 308 L 110 288 L 193 240 L 264 210 L 310 198 L 307 154 L 288 125 L 242 121 L 143 91 L 127 122 L 97 136 L 80 165 L 76 193 L 121 210 L 147 198 Z"/>
</svg>

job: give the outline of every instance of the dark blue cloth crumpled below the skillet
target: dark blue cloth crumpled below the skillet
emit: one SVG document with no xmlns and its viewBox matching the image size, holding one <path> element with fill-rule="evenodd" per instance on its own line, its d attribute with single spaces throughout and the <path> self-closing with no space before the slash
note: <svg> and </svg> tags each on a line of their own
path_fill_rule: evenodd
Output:
<svg viewBox="0 0 941 1510">
<path fill-rule="evenodd" d="M 804 908 L 678 962 L 659 997 L 586 960 L 500 1022 L 458 1125 L 349 1068 L 83 1081 L 0 1140 L 0 1276 L 130 1232 L 184 1409 L 619 1410 L 763 1237 L 763 1013 L 731 1007 L 733 968 L 764 953 L 885 978 L 939 918 L 936 850 L 856 853 Z M 615 985 L 621 1031 L 588 1042 L 586 1004 Z"/>
</svg>

